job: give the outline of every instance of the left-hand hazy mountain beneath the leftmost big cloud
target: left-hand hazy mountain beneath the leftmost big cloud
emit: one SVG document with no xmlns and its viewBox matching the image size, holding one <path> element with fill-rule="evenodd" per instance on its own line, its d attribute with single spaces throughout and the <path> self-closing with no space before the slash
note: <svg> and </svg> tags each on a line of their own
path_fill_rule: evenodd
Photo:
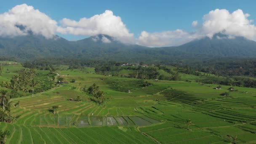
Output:
<svg viewBox="0 0 256 144">
<path fill-rule="evenodd" d="M 40 35 L 0 37 L 0 53 L 18 59 L 37 59 L 65 56 L 73 52 L 74 45 L 68 40 L 55 36 L 46 39 Z M 60 53 L 61 54 L 58 54 Z"/>
</svg>

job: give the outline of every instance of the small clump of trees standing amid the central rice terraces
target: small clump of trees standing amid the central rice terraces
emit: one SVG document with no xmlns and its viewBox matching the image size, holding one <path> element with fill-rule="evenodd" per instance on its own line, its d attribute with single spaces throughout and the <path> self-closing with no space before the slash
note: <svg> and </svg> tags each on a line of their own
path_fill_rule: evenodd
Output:
<svg viewBox="0 0 256 144">
<path fill-rule="evenodd" d="M 104 102 L 105 93 L 103 91 L 100 91 L 99 86 L 97 86 L 95 83 L 93 85 L 91 85 L 88 88 L 88 90 L 86 90 L 85 88 L 84 88 L 84 91 L 93 95 L 97 99 L 97 101 L 99 102 L 100 105 Z"/>
</svg>

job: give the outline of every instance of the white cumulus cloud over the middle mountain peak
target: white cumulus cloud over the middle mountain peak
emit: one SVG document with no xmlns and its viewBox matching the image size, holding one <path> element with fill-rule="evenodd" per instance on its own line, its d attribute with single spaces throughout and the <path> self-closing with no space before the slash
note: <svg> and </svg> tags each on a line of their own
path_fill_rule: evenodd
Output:
<svg viewBox="0 0 256 144">
<path fill-rule="evenodd" d="M 120 16 L 115 16 L 109 10 L 79 21 L 64 18 L 61 20 L 58 32 L 86 36 L 104 34 L 115 37 L 123 43 L 132 43 L 134 40 L 133 34 L 126 28 Z"/>
</svg>

